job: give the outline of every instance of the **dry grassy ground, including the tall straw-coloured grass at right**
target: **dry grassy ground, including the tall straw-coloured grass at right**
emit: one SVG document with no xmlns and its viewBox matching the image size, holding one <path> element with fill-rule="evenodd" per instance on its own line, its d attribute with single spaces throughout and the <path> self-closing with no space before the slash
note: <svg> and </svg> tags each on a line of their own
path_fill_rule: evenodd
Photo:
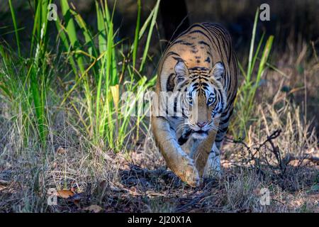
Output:
<svg viewBox="0 0 319 227">
<path fill-rule="evenodd" d="M 196 189 L 165 167 L 150 128 L 114 153 L 62 109 L 43 147 L 23 139 L 0 99 L 0 212 L 319 212 L 319 62 L 307 47 L 277 57 L 280 71 L 263 77 L 247 138 L 228 135 L 221 179 Z"/>
</svg>

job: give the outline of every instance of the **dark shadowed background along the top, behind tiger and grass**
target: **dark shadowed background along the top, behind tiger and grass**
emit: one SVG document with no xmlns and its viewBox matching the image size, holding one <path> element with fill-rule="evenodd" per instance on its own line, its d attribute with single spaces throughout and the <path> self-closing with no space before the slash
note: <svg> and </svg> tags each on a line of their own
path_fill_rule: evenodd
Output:
<svg viewBox="0 0 319 227">
<path fill-rule="evenodd" d="M 60 1 L 53 1 L 60 6 Z M 92 27 L 96 26 L 95 5 L 93 0 L 73 0 L 77 11 L 84 17 L 86 23 Z M 108 1 L 110 9 L 114 1 Z M 230 31 L 236 50 L 246 48 L 249 44 L 254 13 L 260 4 L 267 3 L 270 6 L 270 21 L 259 21 L 259 34 L 266 31 L 267 34 L 275 35 L 276 48 L 286 48 L 287 40 L 298 42 L 300 40 L 313 40 L 318 43 L 319 37 L 319 1 L 318 0 L 185 0 L 174 1 L 177 9 L 167 7 L 169 1 L 163 1 L 158 17 L 158 35 L 164 38 L 163 22 L 174 20 L 176 14 L 188 11 L 186 20 L 189 23 L 213 21 L 222 23 Z M 172 1 L 171 1 L 172 2 Z M 185 5 L 183 4 L 185 2 Z M 172 4 L 172 3 L 170 3 Z M 33 23 L 33 11 L 28 7 L 28 1 L 14 0 L 13 5 L 18 9 L 18 24 L 23 27 L 21 31 L 22 41 L 28 41 Z M 155 5 L 154 0 L 142 1 L 142 21 L 145 20 L 150 10 Z M 164 7 L 163 7 L 164 6 Z M 163 13 L 163 9 L 167 11 Z M 175 13 L 174 13 L 175 12 Z M 59 12 L 60 13 L 60 12 Z M 174 14 L 173 14 L 174 13 Z M 115 24 L 120 28 L 118 38 L 133 38 L 135 31 L 135 20 L 137 4 L 134 0 L 117 1 Z M 164 18 L 163 15 L 164 14 Z M 167 18 L 171 15 L 171 18 Z M 180 21 L 181 22 L 181 21 Z M 169 23 L 167 23 L 169 24 Z M 181 26 L 181 28 L 185 28 Z M 55 33 L 52 28 L 52 33 Z M 181 29 L 183 30 L 183 29 Z M 180 30 L 180 31 L 181 31 Z M 9 6 L 6 0 L 0 1 L 0 37 L 13 41 L 13 31 Z M 179 32 L 179 31 L 178 31 Z M 177 33 L 178 33 L 177 32 Z M 4 35 L 4 33 L 7 33 Z M 162 43 L 162 42 L 161 42 Z"/>
</svg>

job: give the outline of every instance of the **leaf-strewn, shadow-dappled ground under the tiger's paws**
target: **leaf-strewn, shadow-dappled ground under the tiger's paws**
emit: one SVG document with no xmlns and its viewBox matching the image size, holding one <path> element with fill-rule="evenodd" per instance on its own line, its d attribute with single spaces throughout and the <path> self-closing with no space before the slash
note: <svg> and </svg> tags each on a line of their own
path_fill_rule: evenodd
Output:
<svg viewBox="0 0 319 227">
<path fill-rule="evenodd" d="M 64 134 L 70 141 L 76 133 L 69 129 Z M 319 212 L 315 148 L 306 150 L 309 159 L 291 160 L 283 171 L 257 165 L 262 156 L 251 159 L 245 145 L 226 141 L 221 179 L 194 189 L 165 167 L 152 137 L 130 153 L 87 152 L 84 144 L 61 144 L 45 160 L 27 150 L 10 155 L 6 148 L 0 165 L 0 211 Z M 271 159 L 269 149 L 261 152 Z M 50 205 L 55 195 L 57 204 Z"/>
</svg>

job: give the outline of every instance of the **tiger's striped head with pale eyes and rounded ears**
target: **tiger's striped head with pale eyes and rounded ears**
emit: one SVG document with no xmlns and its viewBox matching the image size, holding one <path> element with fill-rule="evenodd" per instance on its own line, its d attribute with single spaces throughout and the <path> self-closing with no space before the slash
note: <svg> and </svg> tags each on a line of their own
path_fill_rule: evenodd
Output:
<svg viewBox="0 0 319 227">
<path fill-rule="evenodd" d="M 183 61 L 174 67 L 174 91 L 183 92 L 184 127 L 196 139 L 204 139 L 209 131 L 218 130 L 218 117 L 225 109 L 227 98 L 223 88 L 223 63 L 188 68 Z"/>
</svg>

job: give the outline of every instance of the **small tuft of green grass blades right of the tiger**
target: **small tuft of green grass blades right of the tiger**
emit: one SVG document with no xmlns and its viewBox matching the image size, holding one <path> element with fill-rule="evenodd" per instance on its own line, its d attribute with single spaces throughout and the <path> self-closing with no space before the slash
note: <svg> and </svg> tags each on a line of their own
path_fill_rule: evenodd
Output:
<svg viewBox="0 0 319 227">
<path fill-rule="evenodd" d="M 272 50 L 274 36 L 270 35 L 264 43 L 264 33 L 260 38 L 257 48 L 254 48 L 256 42 L 257 22 L 259 9 L 257 9 L 254 17 L 254 26 L 252 29 L 252 39 L 250 41 L 250 51 L 248 56 L 247 70 L 238 62 L 240 72 L 244 77 L 242 84 L 237 92 L 235 101 L 235 119 L 233 120 L 230 129 L 233 131 L 235 138 L 245 138 L 251 123 L 254 121 L 254 98 L 257 89 L 261 83 L 262 75 L 267 70 L 267 60 Z M 259 64 L 257 64 L 259 60 Z"/>
</svg>

